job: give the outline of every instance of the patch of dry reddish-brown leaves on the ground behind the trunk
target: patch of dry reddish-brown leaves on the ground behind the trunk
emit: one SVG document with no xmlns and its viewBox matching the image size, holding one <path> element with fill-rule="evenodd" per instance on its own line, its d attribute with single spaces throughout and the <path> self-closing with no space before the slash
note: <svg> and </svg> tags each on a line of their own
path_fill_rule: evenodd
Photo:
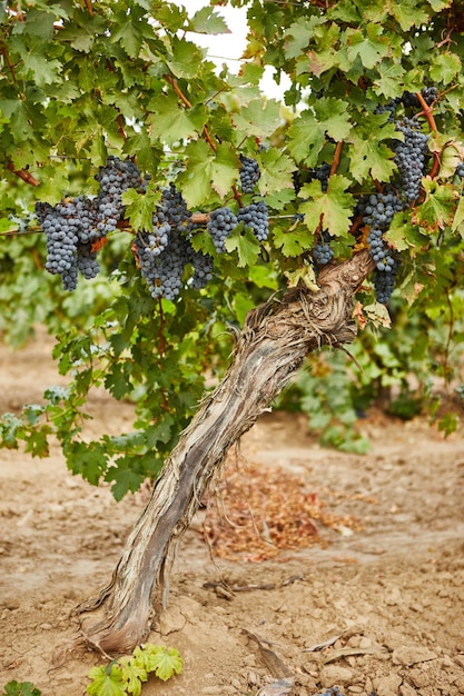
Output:
<svg viewBox="0 0 464 696">
<path fill-rule="evenodd" d="M 326 493 L 333 499 L 338 495 Z M 266 560 L 283 550 L 325 545 L 320 527 L 361 528 L 357 518 L 338 515 L 334 505 L 310 490 L 310 480 L 303 476 L 229 455 L 205 499 L 204 534 L 214 556 Z"/>
</svg>

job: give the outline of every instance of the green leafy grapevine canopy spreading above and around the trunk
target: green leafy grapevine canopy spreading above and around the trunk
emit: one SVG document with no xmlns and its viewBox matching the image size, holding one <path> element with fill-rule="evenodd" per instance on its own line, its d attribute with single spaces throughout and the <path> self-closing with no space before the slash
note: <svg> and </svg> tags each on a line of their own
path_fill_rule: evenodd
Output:
<svg viewBox="0 0 464 696">
<path fill-rule="evenodd" d="M 338 261 L 366 246 L 359 200 L 396 186 L 398 176 L 403 137 L 388 111 L 395 100 L 399 118 L 416 116 L 428 136 L 426 172 L 421 195 L 385 235 L 401 270 L 391 305 L 399 328 L 384 342 L 375 331 L 389 325 L 388 314 L 371 282 L 359 288 L 356 316 L 371 330 L 355 348 L 365 370 L 357 390 L 366 398 L 375 380 L 405 384 L 424 360 L 437 376 L 460 378 L 464 4 L 231 0 L 247 9 L 238 73 L 217 69 L 195 42 L 228 31 L 223 4 L 191 16 L 165 0 L 0 3 L 1 328 L 18 344 L 34 322 L 47 324 L 59 335 L 60 372 L 72 374 L 69 388 L 50 387 L 43 404 L 3 416 L 2 445 L 24 440 L 43 455 L 58 435 L 70 468 L 93 484 L 111 481 L 117 498 L 157 474 L 201 398 L 205 375 L 224 370 L 230 328 L 287 284 L 317 282 L 313 250 L 323 229 Z M 284 105 L 260 91 L 266 66 L 277 81 L 290 78 Z M 424 87 L 437 90 L 432 105 L 399 103 Z M 95 175 L 110 155 L 131 158 L 150 181 L 144 195 L 125 193 L 126 220 L 101 251 L 103 275 L 69 295 L 43 270 L 34 203 L 96 195 Z M 251 193 L 240 191 L 240 156 L 259 163 Z M 314 177 L 324 165 L 326 187 Z M 226 253 L 197 226 L 191 243 L 214 257 L 214 279 L 198 291 L 187 272 L 176 301 L 150 297 L 131 250 L 169 183 L 204 216 L 264 199 L 272 222 L 263 243 L 237 228 Z M 86 441 L 86 398 L 99 386 L 136 402 L 134 430 Z"/>
</svg>

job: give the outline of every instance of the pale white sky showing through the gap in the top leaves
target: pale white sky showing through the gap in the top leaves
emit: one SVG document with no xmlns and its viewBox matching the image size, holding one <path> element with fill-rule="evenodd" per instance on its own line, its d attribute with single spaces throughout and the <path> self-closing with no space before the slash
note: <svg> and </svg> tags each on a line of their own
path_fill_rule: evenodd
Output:
<svg viewBox="0 0 464 696">
<path fill-rule="evenodd" d="M 209 7 L 208 0 L 171 1 L 176 4 L 184 4 L 190 16 L 204 7 Z M 231 72 L 238 72 L 240 68 L 239 58 L 246 48 L 246 8 L 217 7 L 216 12 L 224 17 L 230 33 L 218 36 L 195 34 L 192 40 L 208 49 L 208 59 L 216 62 L 218 67 L 226 63 Z M 284 91 L 289 87 L 289 80 L 285 80 L 283 77 L 282 84 L 276 84 L 273 79 L 273 68 L 267 67 L 260 86 L 268 97 L 280 100 Z"/>
</svg>

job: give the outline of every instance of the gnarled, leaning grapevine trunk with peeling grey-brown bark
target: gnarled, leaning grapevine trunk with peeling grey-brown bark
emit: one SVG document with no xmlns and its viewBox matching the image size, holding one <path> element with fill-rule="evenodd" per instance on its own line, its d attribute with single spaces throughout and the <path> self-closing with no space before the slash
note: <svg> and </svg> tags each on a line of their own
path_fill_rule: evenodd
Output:
<svg viewBox="0 0 464 696">
<path fill-rule="evenodd" d="M 110 585 L 78 607 L 83 642 L 105 654 L 142 643 L 165 598 L 177 544 L 229 448 L 282 391 L 305 356 L 356 337 L 355 289 L 372 270 L 367 251 L 324 269 L 319 290 L 296 288 L 247 316 L 231 365 L 165 463 Z"/>
</svg>

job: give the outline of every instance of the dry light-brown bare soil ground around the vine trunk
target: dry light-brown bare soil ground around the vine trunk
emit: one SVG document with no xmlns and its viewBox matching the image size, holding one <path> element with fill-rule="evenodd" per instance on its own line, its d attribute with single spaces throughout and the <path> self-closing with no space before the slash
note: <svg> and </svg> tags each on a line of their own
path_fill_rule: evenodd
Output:
<svg viewBox="0 0 464 696">
<path fill-rule="evenodd" d="M 0 348 L 2 412 L 62 381 L 49 355 L 43 336 L 14 355 Z M 96 397 L 92 411 L 95 432 L 130 427 L 129 405 Z M 292 696 L 334 685 L 345 696 L 464 694 L 462 434 L 443 440 L 422 421 L 378 415 L 361 425 L 373 445 L 364 457 L 319 448 L 295 416 L 266 416 L 244 438 L 244 480 L 247 466 L 282 467 L 359 525 L 319 525 L 323 545 L 246 563 L 211 559 L 198 515 L 149 638 L 177 647 L 185 670 L 150 680 L 144 696 L 256 695 L 283 665 Z M 109 488 L 72 477 L 58 448 L 42 461 L 0 450 L 0 688 L 17 679 L 45 696 L 85 694 L 99 657 L 52 669 L 52 655 L 72 634 L 70 610 L 109 580 L 142 495 L 116 504 Z"/>
</svg>

